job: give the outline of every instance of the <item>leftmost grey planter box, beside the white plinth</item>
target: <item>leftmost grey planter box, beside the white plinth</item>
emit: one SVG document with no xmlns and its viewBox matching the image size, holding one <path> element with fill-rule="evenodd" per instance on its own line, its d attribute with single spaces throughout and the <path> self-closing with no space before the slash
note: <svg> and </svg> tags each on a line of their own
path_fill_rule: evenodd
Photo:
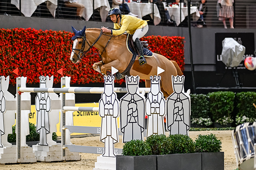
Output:
<svg viewBox="0 0 256 170">
<path fill-rule="evenodd" d="M 156 170 L 156 155 L 117 155 L 116 161 L 116 170 Z"/>
</svg>

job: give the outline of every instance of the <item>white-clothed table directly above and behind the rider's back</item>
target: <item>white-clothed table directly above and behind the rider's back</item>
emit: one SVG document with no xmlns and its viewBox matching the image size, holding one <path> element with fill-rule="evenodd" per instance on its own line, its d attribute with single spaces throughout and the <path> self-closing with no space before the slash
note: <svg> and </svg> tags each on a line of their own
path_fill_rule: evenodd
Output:
<svg viewBox="0 0 256 170">
<path fill-rule="evenodd" d="M 135 15 L 138 15 L 138 18 L 141 18 L 143 16 L 146 16 L 150 14 L 151 18 L 153 19 L 153 8 L 152 4 L 148 3 L 136 3 L 136 2 L 131 2 L 127 3 L 128 7 L 130 8 L 130 11 L 134 13 Z M 158 7 L 156 4 L 154 4 L 154 25 L 158 25 L 161 22 L 161 16 L 158 10 Z"/>
</svg>

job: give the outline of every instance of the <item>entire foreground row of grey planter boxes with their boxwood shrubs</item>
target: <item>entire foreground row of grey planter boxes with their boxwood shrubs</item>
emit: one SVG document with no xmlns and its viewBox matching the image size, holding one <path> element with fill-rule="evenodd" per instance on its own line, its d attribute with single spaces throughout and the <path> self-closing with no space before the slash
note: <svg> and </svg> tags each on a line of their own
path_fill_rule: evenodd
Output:
<svg viewBox="0 0 256 170">
<path fill-rule="evenodd" d="M 116 169 L 224 170 L 224 153 L 220 150 L 221 141 L 213 134 L 199 135 L 195 142 L 181 134 L 152 135 L 145 142 L 124 144 L 123 155 L 116 157 Z"/>
</svg>

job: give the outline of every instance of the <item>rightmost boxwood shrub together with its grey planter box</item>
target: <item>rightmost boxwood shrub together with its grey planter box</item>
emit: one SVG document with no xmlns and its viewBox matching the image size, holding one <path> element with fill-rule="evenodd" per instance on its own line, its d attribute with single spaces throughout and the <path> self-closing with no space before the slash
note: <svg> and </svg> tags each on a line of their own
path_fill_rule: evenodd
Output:
<svg viewBox="0 0 256 170">
<path fill-rule="evenodd" d="M 198 135 L 195 151 L 202 153 L 202 170 L 224 170 L 224 152 L 220 152 L 221 144 L 215 134 Z"/>
</svg>

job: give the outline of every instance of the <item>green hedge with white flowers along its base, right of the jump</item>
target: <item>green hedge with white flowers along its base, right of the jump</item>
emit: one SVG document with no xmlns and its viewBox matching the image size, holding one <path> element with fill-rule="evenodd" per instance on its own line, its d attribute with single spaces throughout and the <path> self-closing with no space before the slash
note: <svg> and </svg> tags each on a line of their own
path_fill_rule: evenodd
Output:
<svg viewBox="0 0 256 170">
<path fill-rule="evenodd" d="M 222 125 L 236 121 L 236 124 L 256 121 L 256 92 L 217 91 L 203 94 L 191 94 L 191 123 L 210 125 L 217 122 Z M 233 120 L 235 119 L 235 120 Z"/>
</svg>

